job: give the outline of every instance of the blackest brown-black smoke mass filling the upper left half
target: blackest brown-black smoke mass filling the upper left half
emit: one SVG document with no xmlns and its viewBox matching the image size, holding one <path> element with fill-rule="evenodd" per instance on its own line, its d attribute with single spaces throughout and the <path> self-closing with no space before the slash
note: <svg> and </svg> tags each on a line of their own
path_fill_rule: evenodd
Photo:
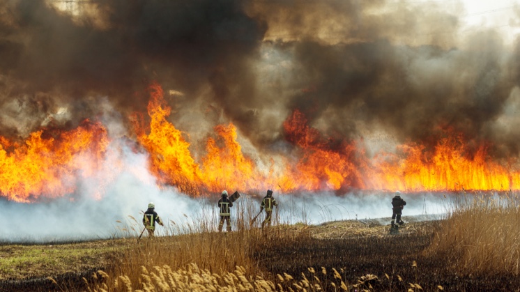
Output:
<svg viewBox="0 0 520 292">
<path fill-rule="evenodd" d="M 93 18 L 73 19 L 49 3 L 0 4 L 8 16 L 0 26 L 0 102 L 30 104 L 31 110 L 20 106 L 13 117 L 27 128 L 35 119 L 29 112 L 41 108 L 35 99 L 45 103 L 43 116 L 68 107 L 71 125 L 95 116 L 92 96 L 109 96 L 123 112 L 142 111 L 147 96 L 139 93 L 151 80 L 191 99 L 209 84 L 211 98 L 230 115 L 238 93 L 252 95 L 253 73 L 245 63 L 265 29 L 245 15 L 240 1 L 91 1 L 101 25 Z"/>
</svg>

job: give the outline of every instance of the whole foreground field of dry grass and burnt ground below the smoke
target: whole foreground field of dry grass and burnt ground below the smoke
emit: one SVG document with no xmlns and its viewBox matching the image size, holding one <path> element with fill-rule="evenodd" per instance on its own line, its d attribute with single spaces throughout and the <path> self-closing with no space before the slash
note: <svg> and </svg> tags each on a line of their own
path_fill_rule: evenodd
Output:
<svg viewBox="0 0 520 292">
<path fill-rule="evenodd" d="M 517 197 L 468 195 L 443 220 L 282 224 L 0 247 L 0 291 L 519 291 Z M 388 222 L 382 220 L 381 222 Z M 182 230 L 181 230 L 182 229 Z M 137 231 L 139 233 L 139 231 Z"/>
</svg>

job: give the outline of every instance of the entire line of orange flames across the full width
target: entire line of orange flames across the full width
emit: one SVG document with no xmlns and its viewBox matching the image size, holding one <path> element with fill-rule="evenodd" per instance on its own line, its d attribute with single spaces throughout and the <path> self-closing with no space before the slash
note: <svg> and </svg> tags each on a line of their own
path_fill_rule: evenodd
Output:
<svg viewBox="0 0 520 292">
<path fill-rule="evenodd" d="M 397 146 L 395 153 L 380 151 L 369 157 L 363 141 L 326 137 L 309 126 L 298 109 L 283 124 L 293 153 L 290 157 L 279 154 L 277 162 L 271 159 L 268 167 L 262 169 L 243 153 L 232 123 L 215 126 L 214 137 L 206 139 L 204 155 L 194 155 L 185 139 L 188 133 L 167 120 L 171 108 L 162 87 L 154 83 L 149 92 L 148 119 L 142 113 L 132 115 L 137 141 L 131 144 L 148 153 L 149 171 L 159 185 L 173 185 L 194 197 L 224 189 L 276 189 L 282 193 L 520 190 L 520 172 L 512 170 L 514 163 L 507 167 L 492 160 L 484 144 L 470 151 L 468 141 L 452 130 L 445 130 L 431 150 L 410 143 Z M 111 161 L 110 171 L 121 171 L 100 122 L 86 120 L 70 131 L 39 130 L 23 144 L 5 137 L 0 141 L 0 191 L 13 201 L 41 201 L 74 193 L 78 181 L 107 168 L 107 160 Z M 110 178 L 102 180 L 107 184 Z M 102 190 L 91 195 L 101 198 Z"/>
</svg>

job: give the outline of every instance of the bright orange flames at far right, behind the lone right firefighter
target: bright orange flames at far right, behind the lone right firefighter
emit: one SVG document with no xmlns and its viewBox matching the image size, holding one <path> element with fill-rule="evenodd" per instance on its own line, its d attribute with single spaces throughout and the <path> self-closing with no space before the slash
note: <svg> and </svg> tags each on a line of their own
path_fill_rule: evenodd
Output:
<svg viewBox="0 0 520 292">
<path fill-rule="evenodd" d="M 425 147 L 409 144 L 399 147 L 399 155 L 376 162 L 375 189 L 394 190 L 497 190 L 519 189 L 519 173 L 489 159 L 487 146 L 480 145 L 471 155 L 461 136 L 448 132 L 438 140 L 428 157 Z"/>
</svg>

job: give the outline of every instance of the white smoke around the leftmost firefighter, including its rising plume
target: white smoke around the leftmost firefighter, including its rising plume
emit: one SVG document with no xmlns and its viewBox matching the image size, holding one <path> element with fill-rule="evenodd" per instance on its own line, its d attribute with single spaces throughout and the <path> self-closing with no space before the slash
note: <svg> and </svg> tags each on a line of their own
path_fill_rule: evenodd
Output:
<svg viewBox="0 0 520 292">
<path fill-rule="evenodd" d="M 121 229 L 142 227 L 142 212 L 150 201 L 162 210 L 161 215 L 171 220 L 178 220 L 182 213 L 190 214 L 197 210 L 199 203 L 194 199 L 173 188 L 160 190 L 157 187 L 155 178 L 146 169 L 146 155 L 133 153 L 128 148 L 124 151 L 125 171 L 121 171 L 109 184 L 103 181 L 111 174 L 100 173 L 95 178 L 78 183 L 77 192 L 70 196 L 40 203 L 0 201 L 0 217 L 9 222 L 0 240 L 23 243 L 135 234 Z M 105 194 L 99 198 L 92 197 L 93 190 L 100 185 L 105 188 Z"/>
</svg>

